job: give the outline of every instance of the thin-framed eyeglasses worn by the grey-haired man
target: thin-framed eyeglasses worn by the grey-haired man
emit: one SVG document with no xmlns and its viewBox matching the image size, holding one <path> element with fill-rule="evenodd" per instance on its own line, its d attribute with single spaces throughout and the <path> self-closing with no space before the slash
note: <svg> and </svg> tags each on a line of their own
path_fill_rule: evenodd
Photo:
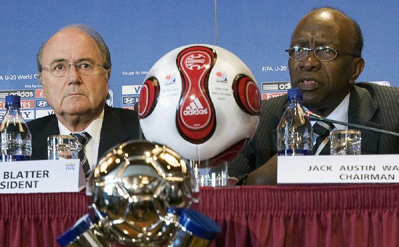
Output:
<svg viewBox="0 0 399 247">
<path fill-rule="evenodd" d="M 100 67 L 104 68 L 102 64 L 84 61 L 78 63 L 55 62 L 48 66 L 44 66 L 43 69 L 50 72 L 52 76 L 63 77 L 68 73 L 72 65 L 75 66 L 76 70 L 81 75 L 98 75 L 101 73 Z"/>
</svg>

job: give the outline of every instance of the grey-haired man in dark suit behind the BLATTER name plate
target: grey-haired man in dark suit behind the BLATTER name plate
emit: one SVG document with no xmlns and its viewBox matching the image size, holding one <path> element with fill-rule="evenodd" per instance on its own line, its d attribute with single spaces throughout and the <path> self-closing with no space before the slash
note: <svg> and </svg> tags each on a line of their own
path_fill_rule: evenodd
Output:
<svg viewBox="0 0 399 247">
<path fill-rule="evenodd" d="M 39 81 L 54 114 L 28 122 L 32 160 L 47 159 L 47 136 L 84 136 L 88 174 L 111 147 L 139 137 L 135 111 L 106 105 L 111 56 L 100 34 L 75 24 L 62 28 L 37 54 Z"/>
</svg>

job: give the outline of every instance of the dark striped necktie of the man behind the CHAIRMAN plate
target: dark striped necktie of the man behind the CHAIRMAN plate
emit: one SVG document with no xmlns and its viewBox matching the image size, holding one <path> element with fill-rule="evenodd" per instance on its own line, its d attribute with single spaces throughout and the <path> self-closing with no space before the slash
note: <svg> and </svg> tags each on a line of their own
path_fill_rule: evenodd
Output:
<svg viewBox="0 0 399 247">
<path fill-rule="evenodd" d="M 334 129 L 333 123 L 317 121 L 313 125 L 313 134 L 316 137 L 316 144 L 313 146 L 314 155 L 316 155 L 317 153 L 318 153 L 317 155 L 330 155 L 329 135 L 333 129 Z"/>
</svg>

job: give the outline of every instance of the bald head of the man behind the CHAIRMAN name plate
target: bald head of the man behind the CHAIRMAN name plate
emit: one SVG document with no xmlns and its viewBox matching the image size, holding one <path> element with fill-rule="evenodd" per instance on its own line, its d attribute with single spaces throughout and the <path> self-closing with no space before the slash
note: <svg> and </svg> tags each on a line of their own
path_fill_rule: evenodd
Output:
<svg viewBox="0 0 399 247">
<path fill-rule="evenodd" d="M 362 46 L 356 22 L 337 9 L 317 8 L 298 22 L 291 47 L 308 52 L 290 58 L 288 68 L 291 85 L 302 89 L 308 109 L 327 117 L 347 97 L 364 68 Z"/>
</svg>

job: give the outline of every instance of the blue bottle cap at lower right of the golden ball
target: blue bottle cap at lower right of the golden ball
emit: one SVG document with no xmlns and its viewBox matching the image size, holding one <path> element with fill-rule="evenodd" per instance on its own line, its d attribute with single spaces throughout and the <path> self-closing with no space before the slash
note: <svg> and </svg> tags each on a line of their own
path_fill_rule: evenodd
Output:
<svg viewBox="0 0 399 247">
<path fill-rule="evenodd" d="M 192 209 L 182 212 L 179 223 L 195 236 L 205 240 L 213 240 L 220 232 L 216 222 Z"/>
</svg>

